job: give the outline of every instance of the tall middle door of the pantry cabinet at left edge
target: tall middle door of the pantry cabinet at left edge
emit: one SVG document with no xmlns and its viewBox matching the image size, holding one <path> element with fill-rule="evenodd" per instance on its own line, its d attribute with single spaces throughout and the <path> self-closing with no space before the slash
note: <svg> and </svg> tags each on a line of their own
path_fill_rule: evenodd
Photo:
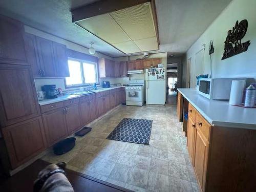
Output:
<svg viewBox="0 0 256 192">
<path fill-rule="evenodd" d="M 2 127 L 40 115 L 29 66 L 0 65 L 0 113 Z"/>
</svg>

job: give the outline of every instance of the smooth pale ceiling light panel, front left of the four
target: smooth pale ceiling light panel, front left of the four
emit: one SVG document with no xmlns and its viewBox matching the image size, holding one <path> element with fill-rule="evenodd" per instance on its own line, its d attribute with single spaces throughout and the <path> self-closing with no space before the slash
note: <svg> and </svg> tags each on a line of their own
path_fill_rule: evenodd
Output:
<svg viewBox="0 0 256 192">
<path fill-rule="evenodd" d="M 84 19 L 78 24 L 110 44 L 131 40 L 109 14 Z"/>
</svg>

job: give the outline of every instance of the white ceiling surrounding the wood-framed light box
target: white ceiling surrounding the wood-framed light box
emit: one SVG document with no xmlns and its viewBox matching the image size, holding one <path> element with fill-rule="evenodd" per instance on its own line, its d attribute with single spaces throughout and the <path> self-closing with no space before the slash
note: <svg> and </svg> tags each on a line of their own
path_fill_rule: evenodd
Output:
<svg viewBox="0 0 256 192">
<path fill-rule="evenodd" d="M 197 40 L 231 0 L 156 0 L 160 50 L 182 54 Z M 24 24 L 70 40 L 103 54 L 120 57 L 124 53 L 72 23 L 70 9 L 95 0 L 1 0 L 0 12 Z M 129 45 L 128 45 L 129 46 Z"/>
</svg>

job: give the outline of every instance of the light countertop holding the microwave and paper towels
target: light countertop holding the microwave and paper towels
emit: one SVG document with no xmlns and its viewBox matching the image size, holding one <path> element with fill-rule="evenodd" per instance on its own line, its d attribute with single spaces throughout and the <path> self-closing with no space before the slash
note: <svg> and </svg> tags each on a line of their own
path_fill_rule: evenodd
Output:
<svg viewBox="0 0 256 192">
<path fill-rule="evenodd" d="M 256 129 L 256 109 L 233 106 L 227 100 L 211 100 L 196 89 L 178 89 L 184 98 L 213 126 Z"/>
</svg>

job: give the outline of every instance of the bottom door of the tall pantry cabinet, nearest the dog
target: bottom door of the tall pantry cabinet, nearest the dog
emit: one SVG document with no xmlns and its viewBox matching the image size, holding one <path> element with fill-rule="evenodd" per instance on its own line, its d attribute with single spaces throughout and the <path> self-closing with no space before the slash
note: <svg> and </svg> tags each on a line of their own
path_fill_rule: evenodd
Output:
<svg viewBox="0 0 256 192">
<path fill-rule="evenodd" d="M 2 129 L 12 169 L 46 148 L 41 116 Z"/>
</svg>

